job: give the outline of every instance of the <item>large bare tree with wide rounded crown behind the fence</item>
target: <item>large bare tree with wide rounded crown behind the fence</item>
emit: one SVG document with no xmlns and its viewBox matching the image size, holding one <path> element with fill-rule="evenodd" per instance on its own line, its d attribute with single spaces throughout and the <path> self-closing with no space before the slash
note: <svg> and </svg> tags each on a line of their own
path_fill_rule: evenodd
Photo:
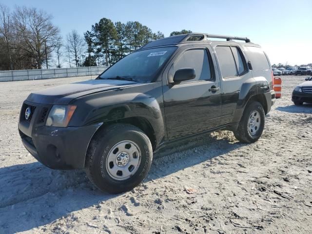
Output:
<svg viewBox="0 0 312 234">
<path fill-rule="evenodd" d="M 59 41 L 59 28 L 51 20 L 51 15 L 36 8 L 17 7 L 14 14 L 16 29 L 26 43 L 23 49 L 34 56 L 39 69 Z"/>
</svg>

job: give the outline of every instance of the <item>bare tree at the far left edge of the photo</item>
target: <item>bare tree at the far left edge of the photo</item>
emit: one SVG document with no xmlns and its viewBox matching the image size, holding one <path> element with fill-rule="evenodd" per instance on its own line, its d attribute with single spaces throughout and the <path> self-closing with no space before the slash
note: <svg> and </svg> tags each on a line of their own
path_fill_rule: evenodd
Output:
<svg viewBox="0 0 312 234">
<path fill-rule="evenodd" d="M 0 36 L 3 37 L 5 43 L 10 70 L 13 70 L 13 62 L 11 54 L 13 24 L 10 9 L 3 4 L 0 4 Z"/>
</svg>

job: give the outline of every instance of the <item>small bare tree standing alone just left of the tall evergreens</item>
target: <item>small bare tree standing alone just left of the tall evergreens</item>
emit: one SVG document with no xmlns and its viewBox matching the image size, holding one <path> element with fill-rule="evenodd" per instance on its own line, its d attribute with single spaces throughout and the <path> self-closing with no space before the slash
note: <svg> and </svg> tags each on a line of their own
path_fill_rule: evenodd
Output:
<svg viewBox="0 0 312 234">
<path fill-rule="evenodd" d="M 85 41 L 76 30 L 72 30 L 72 32 L 67 35 L 67 50 L 69 59 L 72 56 L 76 67 L 78 67 L 80 65 L 81 55 L 85 50 Z"/>
</svg>

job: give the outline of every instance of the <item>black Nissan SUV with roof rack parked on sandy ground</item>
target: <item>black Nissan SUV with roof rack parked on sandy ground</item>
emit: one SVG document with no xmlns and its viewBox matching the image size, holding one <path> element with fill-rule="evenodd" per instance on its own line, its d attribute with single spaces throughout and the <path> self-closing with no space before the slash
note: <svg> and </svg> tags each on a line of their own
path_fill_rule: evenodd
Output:
<svg viewBox="0 0 312 234">
<path fill-rule="evenodd" d="M 145 178 L 153 152 L 169 142 L 217 129 L 255 142 L 274 101 L 259 45 L 192 33 L 152 41 L 95 80 L 30 94 L 19 132 L 44 165 L 85 168 L 99 189 L 120 193 Z"/>
</svg>

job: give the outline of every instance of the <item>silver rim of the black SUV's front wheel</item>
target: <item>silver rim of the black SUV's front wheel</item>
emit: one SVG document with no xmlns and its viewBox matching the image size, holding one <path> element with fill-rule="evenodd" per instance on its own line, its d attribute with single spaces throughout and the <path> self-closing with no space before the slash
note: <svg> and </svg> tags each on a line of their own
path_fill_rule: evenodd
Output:
<svg viewBox="0 0 312 234">
<path fill-rule="evenodd" d="M 106 158 L 108 175 L 116 180 L 126 180 L 133 176 L 141 164 L 141 152 L 137 144 L 130 140 L 118 142 Z"/>
</svg>

